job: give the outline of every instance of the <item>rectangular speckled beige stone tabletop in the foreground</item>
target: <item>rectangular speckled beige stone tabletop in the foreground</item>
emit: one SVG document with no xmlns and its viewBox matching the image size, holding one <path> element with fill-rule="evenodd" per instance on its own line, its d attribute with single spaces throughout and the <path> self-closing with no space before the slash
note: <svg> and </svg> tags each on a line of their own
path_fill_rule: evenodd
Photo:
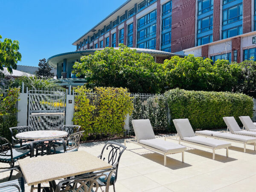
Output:
<svg viewBox="0 0 256 192">
<path fill-rule="evenodd" d="M 112 167 L 109 163 L 86 151 L 25 158 L 18 160 L 18 163 L 28 185 L 36 185 Z"/>
</svg>

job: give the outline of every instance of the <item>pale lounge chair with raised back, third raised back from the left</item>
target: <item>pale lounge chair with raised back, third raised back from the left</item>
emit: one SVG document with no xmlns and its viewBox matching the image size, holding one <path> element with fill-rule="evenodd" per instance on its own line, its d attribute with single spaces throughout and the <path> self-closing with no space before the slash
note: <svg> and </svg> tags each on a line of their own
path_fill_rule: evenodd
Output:
<svg viewBox="0 0 256 192">
<path fill-rule="evenodd" d="M 227 125 L 227 131 L 230 130 L 230 132 L 232 134 L 256 137 L 256 132 L 255 131 L 242 130 L 239 127 L 238 123 L 236 122 L 236 119 L 233 116 L 225 116 L 225 117 L 223 117 L 223 119 L 224 119 L 224 122 Z"/>
</svg>

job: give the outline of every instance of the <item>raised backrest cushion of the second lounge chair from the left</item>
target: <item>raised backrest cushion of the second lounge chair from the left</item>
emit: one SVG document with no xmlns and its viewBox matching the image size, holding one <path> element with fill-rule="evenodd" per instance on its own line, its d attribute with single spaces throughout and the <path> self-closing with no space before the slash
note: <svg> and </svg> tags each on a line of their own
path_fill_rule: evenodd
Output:
<svg viewBox="0 0 256 192">
<path fill-rule="evenodd" d="M 173 122 L 182 140 L 184 137 L 195 137 L 195 133 L 190 125 L 189 119 L 173 119 Z"/>
</svg>

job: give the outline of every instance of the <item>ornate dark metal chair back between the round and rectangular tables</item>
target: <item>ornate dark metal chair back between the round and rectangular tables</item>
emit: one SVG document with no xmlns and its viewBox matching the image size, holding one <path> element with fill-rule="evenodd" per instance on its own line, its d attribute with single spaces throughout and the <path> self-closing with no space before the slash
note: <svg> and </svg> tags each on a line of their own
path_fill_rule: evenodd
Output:
<svg viewBox="0 0 256 192">
<path fill-rule="evenodd" d="M 66 145 L 63 138 L 36 140 L 30 143 L 30 157 L 56 154 L 56 147 L 60 146 L 59 143 L 56 144 L 57 141 L 63 145 L 64 151 L 66 151 Z"/>
</svg>

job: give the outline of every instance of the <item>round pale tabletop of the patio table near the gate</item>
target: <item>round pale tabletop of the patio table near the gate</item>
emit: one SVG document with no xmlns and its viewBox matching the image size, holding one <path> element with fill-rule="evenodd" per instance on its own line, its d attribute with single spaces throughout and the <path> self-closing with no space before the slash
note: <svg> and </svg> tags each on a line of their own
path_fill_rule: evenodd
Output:
<svg viewBox="0 0 256 192">
<path fill-rule="evenodd" d="M 66 137 L 66 131 L 57 130 L 41 130 L 41 131 L 26 131 L 16 134 L 15 137 L 21 140 L 47 140 Z"/>
</svg>

